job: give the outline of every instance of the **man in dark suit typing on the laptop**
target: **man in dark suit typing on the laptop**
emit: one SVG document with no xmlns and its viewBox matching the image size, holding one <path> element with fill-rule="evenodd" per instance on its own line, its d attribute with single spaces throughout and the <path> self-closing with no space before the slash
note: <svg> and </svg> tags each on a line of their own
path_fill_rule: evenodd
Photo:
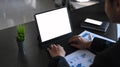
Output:
<svg viewBox="0 0 120 67">
<path fill-rule="evenodd" d="M 111 22 L 120 22 L 120 0 L 105 0 L 105 11 Z M 92 42 L 87 42 L 79 36 L 74 36 L 69 40 L 69 43 L 76 41 L 76 44 L 71 44 L 75 48 L 93 48 L 99 49 L 101 39 L 95 38 Z M 60 45 L 51 45 L 48 48 L 50 55 L 53 57 L 49 67 L 69 67 L 65 60 L 65 51 Z M 90 67 L 120 67 L 120 40 L 110 48 L 102 51 L 95 57 L 93 64 Z"/>
</svg>

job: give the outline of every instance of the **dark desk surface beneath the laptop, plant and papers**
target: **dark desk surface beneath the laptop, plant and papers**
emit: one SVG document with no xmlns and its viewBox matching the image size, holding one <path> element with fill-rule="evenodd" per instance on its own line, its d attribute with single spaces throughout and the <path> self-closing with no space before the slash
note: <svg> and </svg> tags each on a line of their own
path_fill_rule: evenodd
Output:
<svg viewBox="0 0 120 67">
<path fill-rule="evenodd" d="M 71 24 L 74 34 L 79 34 L 83 31 L 80 28 L 80 22 L 82 17 L 86 16 L 98 20 L 108 20 L 104 13 L 99 15 L 93 13 L 94 10 L 86 11 L 87 9 L 97 8 L 97 6 L 91 6 L 89 8 L 83 8 L 81 10 L 71 11 Z M 86 12 L 87 14 L 86 14 Z M 99 17 L 98 17 L 99 16 Z M 100 18 L 101 17 L 101 18 Z M 37 36 L 38 28 L 35 21 L 26 23 L 26 34 L 24 41 L 25 57 L 19 56 L 18 46 L 16 42 L 16 27 L 4 29 L 0 31 L 0 67 L 47 67 L 49 56 L 45 50 L 41 50 L 38 44 Z M 111 24 L 106 33 L 92 31 L 99 35 L 106 36 L 108 38 L 117 39 L 116 24 Z"/>
</svg>

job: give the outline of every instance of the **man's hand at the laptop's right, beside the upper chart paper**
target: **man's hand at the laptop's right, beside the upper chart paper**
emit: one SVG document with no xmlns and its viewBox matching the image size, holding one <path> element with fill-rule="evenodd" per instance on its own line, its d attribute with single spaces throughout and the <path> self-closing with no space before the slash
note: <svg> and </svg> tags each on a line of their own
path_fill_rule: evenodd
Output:
<svg viewBox="0 0 120 67">
<path fill-rule="evenodd" d="M 90 47 L 91 42 L 86 41 L 80 36 L 73 36 L 69 39 L 68 44 L 78 49 L 86 49 Z"/>
</svg>

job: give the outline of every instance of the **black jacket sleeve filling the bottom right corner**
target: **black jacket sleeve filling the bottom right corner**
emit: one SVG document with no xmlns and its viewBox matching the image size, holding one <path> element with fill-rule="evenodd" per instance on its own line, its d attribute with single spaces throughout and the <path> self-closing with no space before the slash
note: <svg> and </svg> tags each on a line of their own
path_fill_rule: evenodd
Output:
<svg viewBox="0 0 120 67">
<path fill-rule="evenodd" d="M 120 40 L 96 55 L 93 64 L 90 67 L 119 67 Z"/>
</svg>

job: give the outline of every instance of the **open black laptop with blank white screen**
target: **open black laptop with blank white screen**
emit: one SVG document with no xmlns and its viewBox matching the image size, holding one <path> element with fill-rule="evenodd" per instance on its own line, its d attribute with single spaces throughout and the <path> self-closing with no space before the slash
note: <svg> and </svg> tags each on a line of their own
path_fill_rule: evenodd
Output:
<svg viewBox="0 0 120 67">
<path fill-rule="evenodd" d="M 72 37 L 71 24 L 66 7 L 35 15 L 39 29 L 40 45 L 63 44 Z"/>
</svg>

